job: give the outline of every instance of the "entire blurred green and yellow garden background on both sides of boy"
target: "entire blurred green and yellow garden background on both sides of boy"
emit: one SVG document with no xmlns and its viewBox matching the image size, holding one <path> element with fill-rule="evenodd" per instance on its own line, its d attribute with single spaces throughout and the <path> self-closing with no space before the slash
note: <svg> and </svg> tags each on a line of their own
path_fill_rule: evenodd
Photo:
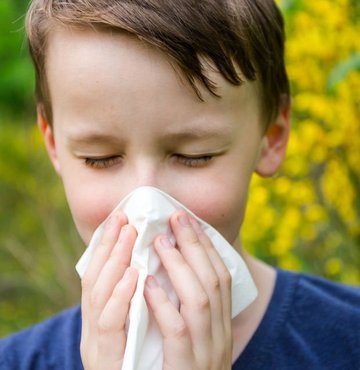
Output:
<svg viewBox="0 0 360 370">
<path fill-rule="evenodd" d="M 0 1 L 0 337 L 79 302 L 84 246 L 36 127 L 27 0 Z M 360 283 L 360 2 L 283 0 L 293 95 L 285 164 L 254 177 L 246 248 Z"/>
</svg>

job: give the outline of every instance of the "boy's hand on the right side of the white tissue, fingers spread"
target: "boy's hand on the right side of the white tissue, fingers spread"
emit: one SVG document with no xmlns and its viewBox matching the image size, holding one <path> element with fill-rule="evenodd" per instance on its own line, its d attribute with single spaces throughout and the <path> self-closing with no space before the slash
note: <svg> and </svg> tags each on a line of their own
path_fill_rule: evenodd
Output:
<svg viewBox="0 0 360 370">
<path fill-rule="evenodd" d="M 179 211 L 171 227 L 178 248 L 161 236 L 155 249 L 180 299 L 180 312 L 154 277 L 148 277 L 145 289 L 164 339 L 163 369 L 231 369 L 231 275 L 194 219 Z"/>
</svg>

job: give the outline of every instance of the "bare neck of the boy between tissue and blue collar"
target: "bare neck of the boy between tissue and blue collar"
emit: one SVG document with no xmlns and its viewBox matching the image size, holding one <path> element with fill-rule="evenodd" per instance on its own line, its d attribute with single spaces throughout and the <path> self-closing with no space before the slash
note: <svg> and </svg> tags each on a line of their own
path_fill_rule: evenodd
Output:
<svg viewBox="0 0 360 370">
<path fill-rule="evenodd" d="M 240 356 L 260 325 L 270 303 L 276 279 L 274 268 L 244 251 L 240 238 L 235 241 L 234 248 L 244 259 L 258 289 L 258 296 L 250 306 L 232 320 L 233 361 Z"/>
</svg>

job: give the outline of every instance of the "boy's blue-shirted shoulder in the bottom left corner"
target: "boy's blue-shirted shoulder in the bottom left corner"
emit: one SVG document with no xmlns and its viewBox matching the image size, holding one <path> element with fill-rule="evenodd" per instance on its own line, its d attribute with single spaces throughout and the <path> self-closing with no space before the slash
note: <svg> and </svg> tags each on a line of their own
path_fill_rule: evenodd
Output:
<svg viewBox="0 0 360 370">
<path fill-rule="evenodd" d="M 80 307 L 0 340 L 0 369 L 81 369 Z"/>
</svg>

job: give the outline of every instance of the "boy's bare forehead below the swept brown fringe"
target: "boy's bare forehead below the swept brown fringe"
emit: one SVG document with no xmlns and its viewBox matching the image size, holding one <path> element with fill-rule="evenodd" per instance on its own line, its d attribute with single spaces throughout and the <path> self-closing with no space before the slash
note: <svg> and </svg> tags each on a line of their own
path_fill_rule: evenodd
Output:
<svg viewBox="0 0 360 370">
<path fill-rule="evenodd" d="M 259 110 L 255 83 L 233 86 L 206 63 L 221 98 L 199 85 L 202 102 L 163 52 L 126 33 L 56 27 L 48 41 L 46 71 L 54 120 L 66 110 L 84 112 L 99 102 L 108 115 L 141 109 L 149 116 L 168 113 L 183 120 L 186 112 L 216 119 L 226 111 Z"/>
</svg>

